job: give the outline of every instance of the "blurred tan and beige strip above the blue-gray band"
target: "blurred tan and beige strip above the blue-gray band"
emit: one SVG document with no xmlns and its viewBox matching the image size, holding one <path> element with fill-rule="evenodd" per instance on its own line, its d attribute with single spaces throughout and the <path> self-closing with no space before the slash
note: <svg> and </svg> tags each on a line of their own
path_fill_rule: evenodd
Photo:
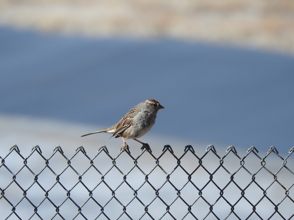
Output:
<svg viewBox="0 0 294 220">
<path fill-rule="evenodd" d="M 0 26 L 172 38 L 294 55 L 293 0 L 1 0 Z"/>
</svg>

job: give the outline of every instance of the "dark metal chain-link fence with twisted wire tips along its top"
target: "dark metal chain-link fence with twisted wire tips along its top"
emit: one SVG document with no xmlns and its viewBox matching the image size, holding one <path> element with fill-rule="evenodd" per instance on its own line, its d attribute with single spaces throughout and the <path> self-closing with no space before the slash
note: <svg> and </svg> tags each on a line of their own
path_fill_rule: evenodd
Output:
<svg viewBox="0 0 294 220">
<path fill-rule="evenodd" d="M 291 219 L 293 150 L 219 156 L 209 145 L 199 156 L 165 145 L 159 156 L 113 157 L 102 146 L 90 158 L 80 146 L 68 158 L 57 146 L 45 158 L 14 145 L 0 156 L 0 219 Z"/>
</svg>

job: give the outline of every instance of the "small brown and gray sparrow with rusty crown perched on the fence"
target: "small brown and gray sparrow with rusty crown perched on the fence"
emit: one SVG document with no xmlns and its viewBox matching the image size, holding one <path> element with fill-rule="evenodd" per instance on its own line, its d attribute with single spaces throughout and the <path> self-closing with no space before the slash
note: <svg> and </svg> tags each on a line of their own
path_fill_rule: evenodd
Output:
<svg viewBox="0 0 294 220">
<path fill-rule="evenodd" d="M 128 150 L 128 145 L 124 139 L 134 139 L 135 141 L 138 141 L 136 138 L 140 138 L 150 131 L 155 123 L 159 109 L 164 109 L 164 107 L 161 106 L 158 101 L 147 99 L 129 110 L 117 124 L 109 128 L 84 134 L 81 137 L 101 132 L 111 133 L 111 137 L 121 137 L 123 139 L 122 148 Z M 141 149 L 146 148 L 147 150 L 150 150 L 147 143 L 141 141 L 138 142 L 143 144 Z"/>
</svg>

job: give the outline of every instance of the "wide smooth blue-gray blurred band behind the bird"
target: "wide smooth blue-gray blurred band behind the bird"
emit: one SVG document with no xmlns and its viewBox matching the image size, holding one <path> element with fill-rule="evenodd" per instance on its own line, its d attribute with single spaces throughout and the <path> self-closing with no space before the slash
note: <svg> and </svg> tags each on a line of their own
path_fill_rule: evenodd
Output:
<svg viewBox="0 0 294 220">
<path fill-rule="evenodd" d="M 111 126 L 157 99 L 165 109 L 151 134 L 285 153 L 294 145 L 291 56 L 9 28 L 0 29 L 0 48 L 0 113 Z"/>
</svg>

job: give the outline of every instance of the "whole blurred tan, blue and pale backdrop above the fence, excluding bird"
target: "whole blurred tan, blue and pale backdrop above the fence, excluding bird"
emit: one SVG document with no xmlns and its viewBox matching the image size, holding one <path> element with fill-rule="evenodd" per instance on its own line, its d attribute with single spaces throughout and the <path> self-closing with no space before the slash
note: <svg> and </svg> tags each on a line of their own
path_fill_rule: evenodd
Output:
<svg viewBox="0 0 294 220">
<path fill-rule="evenodd" d="M 166 144 L 288 155 L 293 56 L 289 0 L 1 0 L 0 155 L 13 144 L 116 155 L 121 139 L 80 136 L 146 99 L 165 107 L 140 138 L 155 155 Z"/>
</svg>

